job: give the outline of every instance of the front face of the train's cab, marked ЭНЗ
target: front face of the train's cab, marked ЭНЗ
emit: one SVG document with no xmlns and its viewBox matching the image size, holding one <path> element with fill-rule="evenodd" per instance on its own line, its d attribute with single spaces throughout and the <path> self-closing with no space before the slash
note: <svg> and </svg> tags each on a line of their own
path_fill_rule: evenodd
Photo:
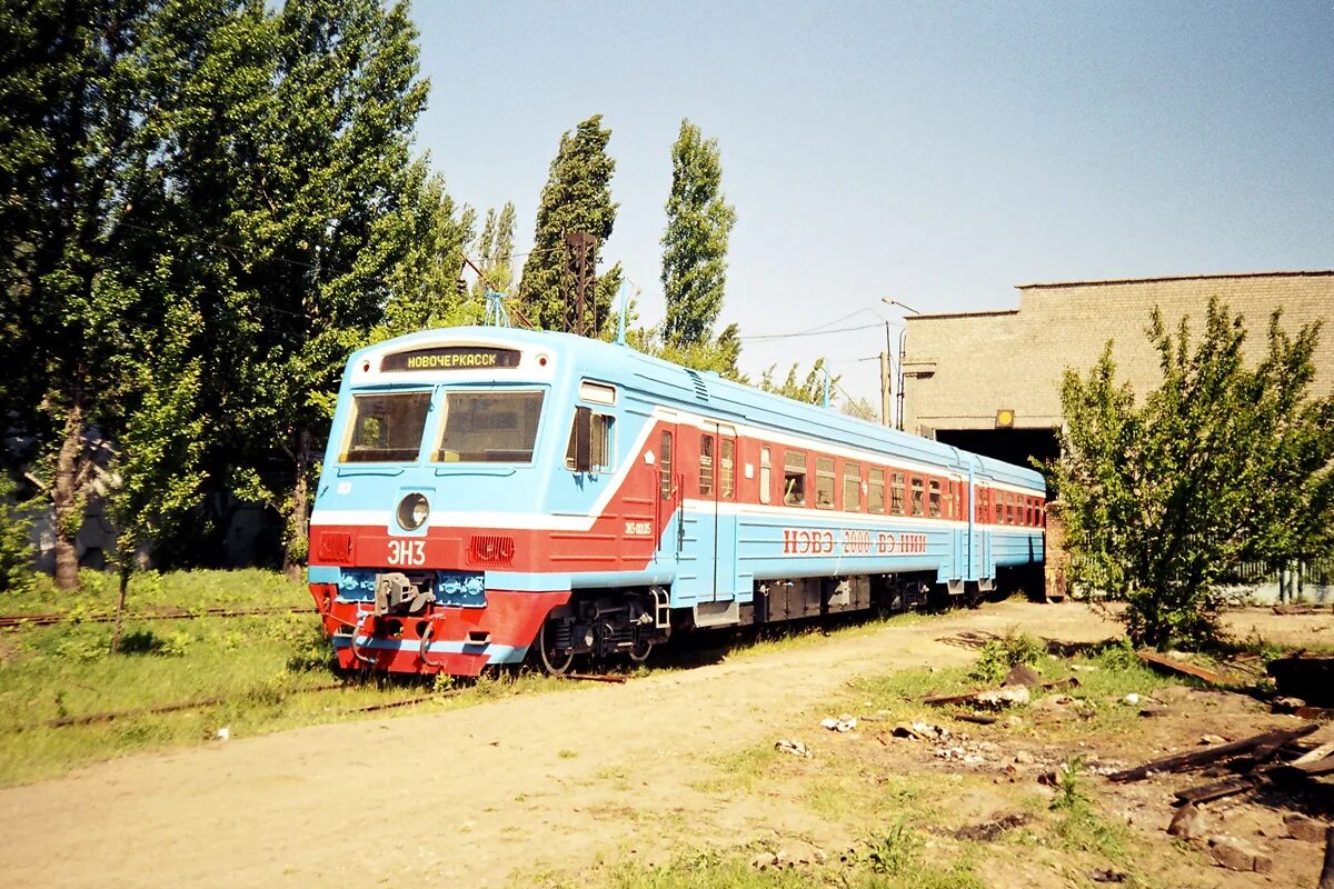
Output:
<svg viewBox="0 0 1334 889">
<path fill-rule="evenodd" d="M 311 516 L 309 589 L 344 669 L 476 676 L 570 598 L 543 572 L 559 355 L 468 328 L 352 356 Z M 551 588 L 555 585 L 555 588 Z"/>
</svg>

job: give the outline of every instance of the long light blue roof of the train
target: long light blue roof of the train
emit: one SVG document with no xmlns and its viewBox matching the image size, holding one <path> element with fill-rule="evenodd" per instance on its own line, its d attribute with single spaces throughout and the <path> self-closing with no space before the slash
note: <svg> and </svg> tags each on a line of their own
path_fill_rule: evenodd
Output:
<svg viewBox="0 0 1334 889">
<path fill-rule="evenodd" d="M 434 328 L 386 340 L 355 352 L 350 367 L 371 355 L 404 347 L 444 341 L 512 344 L 548 349 L 560 364 L 574 361 L 583 376 L 604 379 L 642 391 L 664 407 L 727 417 L 734 423 L 799 431 L 835 444 L 890 450 L 906 457 L 960 469 L 971 466 L 984 476 L 1017 485 L 1043 488 L 1042 474 L 1026 466 L 1002 462 L 960 450 L 931 439 L 890 429 L 839 411 L 795 401 L 751 385 L 726 380 L 712 371 L 692 371 L 639 352 L 628 345 L 604 343 L 556 331 L 526 331 L 498 327 Z"/>
</svg>

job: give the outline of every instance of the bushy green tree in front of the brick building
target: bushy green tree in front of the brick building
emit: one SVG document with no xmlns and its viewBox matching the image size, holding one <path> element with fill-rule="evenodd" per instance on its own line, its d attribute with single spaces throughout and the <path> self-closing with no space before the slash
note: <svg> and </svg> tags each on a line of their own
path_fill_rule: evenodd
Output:
<svg viewBox="0 0 1334 889">
<path fill-rule="evenodd" d="M 1198 343 L 1154 311 L 1162 384 L 1137 400 L 1115 380 L 1111 343 L 1062 385 L 1059 494 L 1071 580 L 1127 602 L 1137 644 L 1217 634 L 1218 584 L 1239 562 L 1290 557 L 1327 541 L 1334 496 L 1334 395 L 1309 397 L 1318 325 L 1295 337 L 1270 319 L 1253 369 L 1246 329 L 1210 301 Z"/>
</svg>

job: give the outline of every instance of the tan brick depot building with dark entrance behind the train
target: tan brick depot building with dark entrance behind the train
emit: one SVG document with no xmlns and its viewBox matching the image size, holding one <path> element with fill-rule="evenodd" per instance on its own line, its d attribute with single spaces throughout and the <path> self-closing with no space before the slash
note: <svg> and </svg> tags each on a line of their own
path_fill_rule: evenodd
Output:
<svg viewBox="0 0 1334 889">
<path fill-rule="evenodd" d="M 1145 336 L 1153 308 L 1162 308 L 1170 327 L 1189 315 L 1198 331 L 1211 296 L 1245 316 L 1251 357 L 1265 352 L 1275 308 L 1283 309 L 1289 332 L 1323 319 L 1314 391 L 1334 387 L 1334 271 L 1023 284 L 1018 291 L 1015 309 L 907 317 L 906 431 L 1011 462 L 1054 456 L 1065 369 L 1087 371 L 1110 339 L 1118 377 L 1146 392 L 1159 380 L 1158 356 Z"/>
</svg>

